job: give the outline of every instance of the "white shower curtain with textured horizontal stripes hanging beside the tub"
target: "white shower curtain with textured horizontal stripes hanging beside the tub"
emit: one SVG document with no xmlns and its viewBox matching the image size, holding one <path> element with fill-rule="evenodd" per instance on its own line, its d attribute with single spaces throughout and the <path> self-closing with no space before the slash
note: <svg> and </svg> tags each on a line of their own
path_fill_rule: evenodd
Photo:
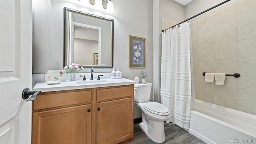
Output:
<svg viewBox="0 0 256 144">
<path fill-rule="evenodd" d="M 190 22 L 162 32 L 161 103 L 170 119 L 189 129 L 191 101 Z"/>
</svg>

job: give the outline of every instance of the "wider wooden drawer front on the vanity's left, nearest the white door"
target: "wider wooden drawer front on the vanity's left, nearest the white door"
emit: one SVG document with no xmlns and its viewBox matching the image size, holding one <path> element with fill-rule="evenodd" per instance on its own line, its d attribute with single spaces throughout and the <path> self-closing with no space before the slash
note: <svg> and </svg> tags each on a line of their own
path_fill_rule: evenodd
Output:
<svg viewBox="0 0 256 144">
<path fill-rule="evenodd" d="M 33 110 L 83 104 L 91 102 L 91 100 L 91 90 L 79 92 L 61 92 L 55 94 L 40 94 L 36 96 L 36 99 L 34 100 Z"/>
</svg>

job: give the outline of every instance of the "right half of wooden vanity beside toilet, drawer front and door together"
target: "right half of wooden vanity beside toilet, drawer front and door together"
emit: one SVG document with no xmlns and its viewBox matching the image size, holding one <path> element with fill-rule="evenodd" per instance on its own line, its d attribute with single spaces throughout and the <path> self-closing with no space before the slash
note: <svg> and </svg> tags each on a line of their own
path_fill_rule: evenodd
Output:
<svg viewBox="0 0 256 144">
<path fill-rule="evenodd" d="M 133 85 L 97 90 L 97 144 L 117 144 L 133 137 L 133 92 Z"/>
</svg>

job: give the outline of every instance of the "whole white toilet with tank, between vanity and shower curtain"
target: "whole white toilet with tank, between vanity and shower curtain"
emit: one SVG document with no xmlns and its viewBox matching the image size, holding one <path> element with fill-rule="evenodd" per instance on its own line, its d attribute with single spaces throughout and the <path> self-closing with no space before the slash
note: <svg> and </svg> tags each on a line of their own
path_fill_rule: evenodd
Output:
<svg viewBox="0 0 256 144">
<path fill-rule="evenodd" d="M 142 110 L 140 128 L 157 143 L 165 141 L 164 121 L 170 118 L 170 110 L 158 102 L 150 102 L 151 83 L 134 84 L 134 101 Z"/>
</svg>

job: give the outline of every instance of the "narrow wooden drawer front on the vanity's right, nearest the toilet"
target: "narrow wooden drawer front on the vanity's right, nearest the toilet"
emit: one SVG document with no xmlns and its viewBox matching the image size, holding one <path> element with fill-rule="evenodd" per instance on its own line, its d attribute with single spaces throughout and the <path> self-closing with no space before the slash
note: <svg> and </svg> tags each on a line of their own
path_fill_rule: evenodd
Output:
<svg viewBox="0 0 256 144">
<path fill-rule="evenodd" d="M 133 86 L 97 90 L 97 101 L 133 97 Z"/>
</svg>

